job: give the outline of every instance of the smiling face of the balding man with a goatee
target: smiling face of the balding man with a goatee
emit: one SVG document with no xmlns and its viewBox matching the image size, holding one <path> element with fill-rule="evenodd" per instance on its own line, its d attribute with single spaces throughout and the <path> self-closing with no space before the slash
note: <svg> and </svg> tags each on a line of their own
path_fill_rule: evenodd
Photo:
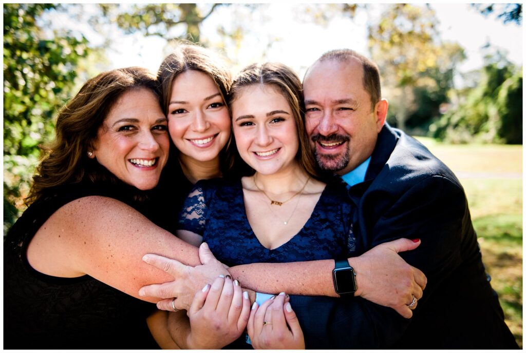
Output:
<svg viewBox="0 0 526 353">
<path fill-rule="evenodd" d="M 321 169 L 340 175 L 372 154 L 387 115 L 387 101 L 371 110 L 360 61 L 318 61 L 304 80 L 305 123 Z"/>
</svg>

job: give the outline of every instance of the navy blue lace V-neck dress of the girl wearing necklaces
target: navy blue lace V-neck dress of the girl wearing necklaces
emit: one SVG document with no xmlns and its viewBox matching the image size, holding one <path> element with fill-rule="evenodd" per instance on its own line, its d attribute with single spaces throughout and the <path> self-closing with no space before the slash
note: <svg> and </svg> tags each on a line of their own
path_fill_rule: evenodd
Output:
<svg viewBox="0 0 526 353">
<path fill-rule="evenodd" d="M 327 184 L 299 233 L 287 243 L 269 250 L 261 245 L 248 223 L 241 181 L 201 180 L 184 202 L 179 229 L 202 235 L 203 242 L 209 245 L 217 259 L 228 266 L 340 259 L 356 255 L 352 210 L 345 185 Z M 333 311 L 337 306 L 334 304 L 342 300 L 349 299 L 291 296 L 307 348 L 341 348 L 331 344 L 335 338 L 330 336 L 328 327 L 335 318 Z M 304 313 L 310 311 L 311 315 L 313 310 L 319 310 L 319 320 L 302 320 Z M 225 348 L 249 349 L 251 346 L 242 335 Z"/>
</svg>

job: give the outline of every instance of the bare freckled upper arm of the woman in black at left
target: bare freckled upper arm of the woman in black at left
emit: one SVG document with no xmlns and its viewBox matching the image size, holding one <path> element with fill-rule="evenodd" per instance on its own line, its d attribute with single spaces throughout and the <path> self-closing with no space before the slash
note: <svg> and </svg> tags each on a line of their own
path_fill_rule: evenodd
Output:
<svg viewBox="0 0 526 353">
<path fill-rule="evenodd" d="M 197 248 L 151 223 L 130 206 L 102 196 L 88 196 L 60 207 L 29 244 L 29 263 L 39 272 L 78 277 L 84 274 L 131 296 L 141 286 L 172 281 L 173 276 L 142 257 L 155 253 L 198 265 Z"/>
</svg>

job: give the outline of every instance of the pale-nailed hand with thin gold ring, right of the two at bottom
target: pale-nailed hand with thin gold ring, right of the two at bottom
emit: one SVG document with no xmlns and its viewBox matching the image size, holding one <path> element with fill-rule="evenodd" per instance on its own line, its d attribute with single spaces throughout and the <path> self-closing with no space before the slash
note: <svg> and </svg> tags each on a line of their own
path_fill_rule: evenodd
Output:
<svg viewBox="0 0 526 353">
<path fill-rule="evenodd" d="M 303 332 L 285 293 L 260 307 L 254 303 L 247 331 L 255 349 L 305 349 Z"/>
</svg>

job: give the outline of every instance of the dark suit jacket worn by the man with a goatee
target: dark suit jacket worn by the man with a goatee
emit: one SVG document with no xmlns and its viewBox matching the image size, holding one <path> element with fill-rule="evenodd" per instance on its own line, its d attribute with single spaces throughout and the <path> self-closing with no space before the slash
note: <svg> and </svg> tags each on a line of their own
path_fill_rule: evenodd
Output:
<svg viewBox="0 0 526 353">
<path fill-rule="evenodd" d="M 420 238 L 416 250 L 400 255 L 428 284 L 412 319 L 358 297 L 321 304 L 292 296 L 300 322 L 316 322 L 308 325 L 307 348 L 518 348 L 485 274 L 462 186 L 426 147 L 386 124 L 365 181 L 349 197 L 357 206 L 357 255 Z"/>
</svg>

